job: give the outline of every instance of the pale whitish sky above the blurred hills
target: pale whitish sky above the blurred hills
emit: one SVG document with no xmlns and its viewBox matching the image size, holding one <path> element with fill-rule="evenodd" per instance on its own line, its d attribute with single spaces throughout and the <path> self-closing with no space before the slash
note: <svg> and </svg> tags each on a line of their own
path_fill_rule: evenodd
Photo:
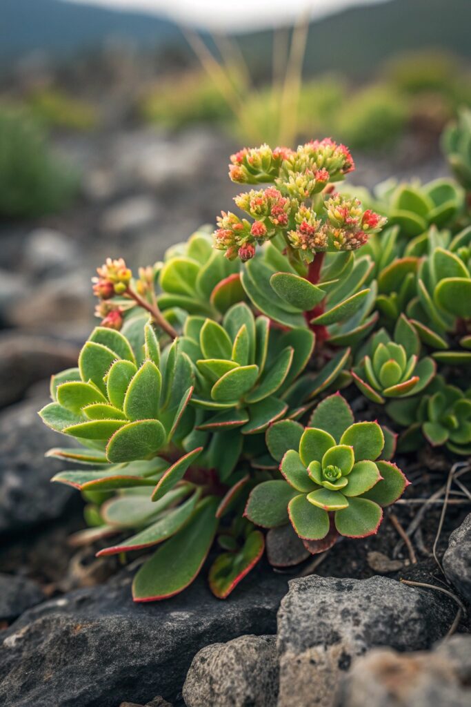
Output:
<svg viewBox="0 0 471 707">
<path fill-rule="evenodd" d="M 210 30 L 268 28 L 292 22 L 300 14 L 321 17 L 348 6 L 386 0 L 66 0 L 145 10 L 179 23 Z"/>
</svg>

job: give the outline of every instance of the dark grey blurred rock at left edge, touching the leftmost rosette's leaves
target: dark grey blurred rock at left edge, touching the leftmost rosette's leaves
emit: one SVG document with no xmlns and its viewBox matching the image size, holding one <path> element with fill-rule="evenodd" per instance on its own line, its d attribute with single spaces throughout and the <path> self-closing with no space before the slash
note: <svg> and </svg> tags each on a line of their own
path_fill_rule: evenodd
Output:
<svg viewBox="0 0 471 707">
<path fill-rule="evenodd" d="M 44 452 L 70 442 L 38 416 L 47 402 L 32 399 L 0 413 L 0 534 L 59 518 L 74 493 L 50 482 L 64 462 L 44 459 Z"/>
</svg>

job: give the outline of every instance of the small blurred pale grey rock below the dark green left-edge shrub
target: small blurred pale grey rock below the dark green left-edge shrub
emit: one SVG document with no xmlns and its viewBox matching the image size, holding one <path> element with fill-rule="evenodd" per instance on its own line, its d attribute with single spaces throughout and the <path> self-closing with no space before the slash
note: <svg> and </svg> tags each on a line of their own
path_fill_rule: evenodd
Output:
<svg viewBox="0 0 471 707">
<path fill-rule="evenodd" d="M 23 268 L 35 276 L 70 271 L 76 266 L 76 244 L 52 228 L 33 230 L 25 240 L 23 253 Z"/>
</svg>

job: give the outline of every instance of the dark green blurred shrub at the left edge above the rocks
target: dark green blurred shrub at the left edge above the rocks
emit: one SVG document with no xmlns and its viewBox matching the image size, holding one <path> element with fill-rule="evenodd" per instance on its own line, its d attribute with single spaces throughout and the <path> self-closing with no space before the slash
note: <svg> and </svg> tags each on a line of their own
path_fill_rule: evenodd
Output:
<svg viewBox="0 0 471 707">
<path fill-rule="evenodd" d="M 70 204 L 78 182 L 49 151 L 42 128 L 23 110 L 0 107 L 0 214 L 40 216 Z"/>
</svg>

